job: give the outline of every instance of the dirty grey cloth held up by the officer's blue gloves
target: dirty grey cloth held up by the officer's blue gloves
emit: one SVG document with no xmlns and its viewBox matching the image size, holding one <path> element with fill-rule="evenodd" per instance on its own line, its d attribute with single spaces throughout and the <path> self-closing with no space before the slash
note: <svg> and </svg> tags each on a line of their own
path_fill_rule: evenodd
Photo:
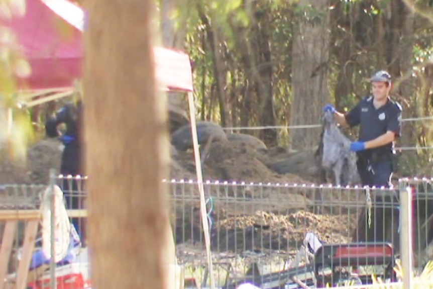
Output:
<svg viewBox="0 0 433 289">
<path fill-rule="evenodd" d="M 353 185 L 360 178 L 356 165 L 356 153 L 350 150 L 351 141 L 337 125 L 334 114 L 326 112 L 322 118 L 322 157 L 321 166 L 332 171 L 335 185 Z"/>
</svg>

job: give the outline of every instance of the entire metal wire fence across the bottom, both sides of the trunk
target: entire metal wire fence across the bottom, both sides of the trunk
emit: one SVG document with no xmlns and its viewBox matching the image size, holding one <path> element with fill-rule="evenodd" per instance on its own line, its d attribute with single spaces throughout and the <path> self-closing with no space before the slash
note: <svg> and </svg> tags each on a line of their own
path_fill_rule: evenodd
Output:
<svg viewBox="0 0 433 289">
<path fill-rule="evenodd" d="M 197 183 L 166 182 L 176 257 L 182 267 L 185 288 L 209 286 L 210 276 L 219 288 L 236 288 L 243 282 L 261 288 L 366 284 L 372 282 L 372 273 L 384 280 L 396 280 L 393 267 L 403 248 L 400 197 L 407 187 L 412 197 L 413 269 L 422 269 L 433 256 L 431 179 L 401 179 L 399 188 L 208 181 L 204 183 L 204 191 L 211 274 L 207 268 Z M 35 289 L 48 285 L 64 289 L 90 286 L 85 183 L 86 178 L 56 177 L 48 186 L 6 185 L 0 189 L 3 240 L 0 278 L 7 280 L 5 284 Z M 68 209 L 65 211 L 68 223 L 73 227 L 57 222 L 56 214 L 46 215 L 57 204 L 47 203 L 44 198 L 53 196 L 55 184 L 63 191 L 62 205 Z M 54 212 L 62 213 L 55 208 Z M 50 222 L 46 221 L 48 218 Z M 20 219 L 18 226 L 14 221 L 17 219 Z M 56 224 L 49 229 L 52 241 L 49 248 L 43 242 L 48 238 L 44 231 L 47 224 Z M 72 262 L 65 261 L 65 257 L 56 262 L 51 262 L 52 258 L 38 259 L 35 253 L 38 250 L 53 255 L 61 248 L 53 240 L 61 243 L 58 238 L 61 233 L 56 230 L 62 232 L 62 228 L 75 228 L 80 239 L 70 242 L 76 245 L 75 250 L 72 245 L 68 247 L 73 250 Z M 36 249 L 28 246 L 35 243 L 33 231 Z M 68 234 L 67 238 L 77 239 L 74 234 Z M 8 262 L 2 261 L 5 256 Z M 20 279 L 25 271 L 28 271 L 26 278 Z"/>
</svg>

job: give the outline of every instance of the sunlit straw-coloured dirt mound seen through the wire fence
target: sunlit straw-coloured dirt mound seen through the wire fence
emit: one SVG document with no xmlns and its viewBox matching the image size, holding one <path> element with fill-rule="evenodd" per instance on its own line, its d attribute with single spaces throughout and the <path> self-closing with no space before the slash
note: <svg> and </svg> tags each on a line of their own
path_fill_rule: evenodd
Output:
<svg viewBox="0 0 433 289">
<path fill-rule="evenodd" d="M 203 242 L 199 211 L 177 218 L 176 243 Z M 256 211 L 255 214 L 229 217 L 215 214 L 211 228 L 212 248 L 219 252 L 295 250 L 302 245 L 306 232 L 314 232 L 326 243 L 351 241 L 357 214 L 335 216 L 299 210 L 290 214 Z"/>
</svg>

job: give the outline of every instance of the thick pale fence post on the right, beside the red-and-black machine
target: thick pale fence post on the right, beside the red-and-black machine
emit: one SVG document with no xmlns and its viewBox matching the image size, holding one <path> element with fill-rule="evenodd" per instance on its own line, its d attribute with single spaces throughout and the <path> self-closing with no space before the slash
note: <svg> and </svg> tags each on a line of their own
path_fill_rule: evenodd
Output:
<svg viewBox="0 0 433 289">
<path fill-rule="evenodd" d="M 400 192 L 400 256 L 403 268 L 403 288 L 412 286 L 412 191 L 404 180 L 399 183 Z"/>
</svg>

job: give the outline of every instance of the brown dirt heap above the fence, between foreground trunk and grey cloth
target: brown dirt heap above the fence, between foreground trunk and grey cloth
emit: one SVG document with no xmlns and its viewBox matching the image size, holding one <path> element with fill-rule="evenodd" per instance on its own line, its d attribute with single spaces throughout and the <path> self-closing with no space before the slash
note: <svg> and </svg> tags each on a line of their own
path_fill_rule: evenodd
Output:
<svg viewBox="0 0 433 289">
<path fill-rule="evenodd" d="M 279 151 L 279 152 L 278 152 Z M 313 152 L 310 153 L 311 155 Z M 221 140 L 211 143 L 207 153 L 201 155 L 204 180 L 227 180 L 236 182 L 289 182 L 310 183 L 314 174 L 302 175 L 300 168 L 296 173 L 278 173 L 272 169 L 274 163 L 287 160 L 293 153 L 284 148 L 273 150 L 256 149 L 253 145 L 238 140 Z M 302 161 L 308 162 L 307 159 Z M 177 151 L 173 156 L 170 177 L 175 179 L 196 179 L 194 153 L 192 150 Z M 286 164 L 290 166 L 290 164 Z M 314 166 L 314 164 L 311 164 Z M 183 168 L 183 169 L 182 169 Z M 296 172 L 296 168 L 292 167 Z"/>
</svg>

